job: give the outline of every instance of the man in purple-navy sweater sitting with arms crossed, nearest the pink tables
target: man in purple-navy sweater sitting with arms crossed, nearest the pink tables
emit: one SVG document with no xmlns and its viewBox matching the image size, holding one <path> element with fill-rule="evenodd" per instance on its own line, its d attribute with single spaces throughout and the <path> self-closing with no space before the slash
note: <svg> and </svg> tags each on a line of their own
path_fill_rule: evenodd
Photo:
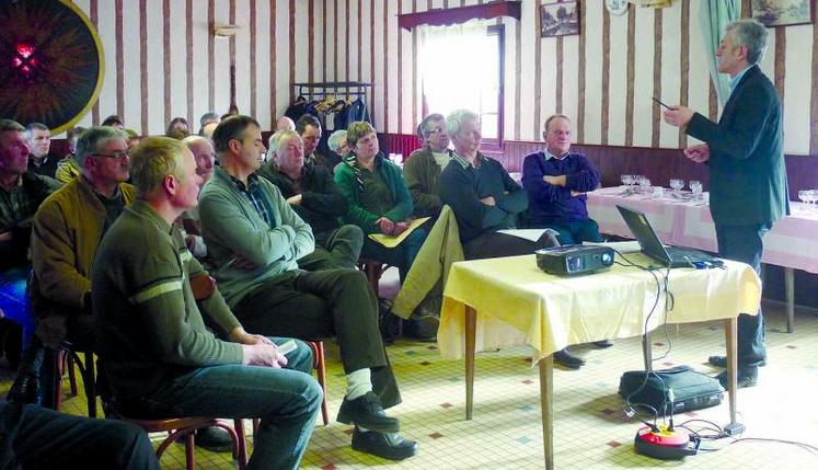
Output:
<svg viewBox="0 0 818 470">
<path fill-rule="evenodd" d="M 542 137 L 545 150 L 527 156 L 522 164 L 522 185 L 530 202 L 529 225 L 556 230 L 561 244 L 602 241 L 599 226 L 588 217 L 585 195 L 599 186 L 599 171 L 584 154 L 571 151 L 571 121 L 562 114 L 549 117 Z M 608 340 L 594 344 L 612 345 Z M 567 347 L 554 353 L 554 360 L 572 369 L 585 364 Z"/>
</svg>

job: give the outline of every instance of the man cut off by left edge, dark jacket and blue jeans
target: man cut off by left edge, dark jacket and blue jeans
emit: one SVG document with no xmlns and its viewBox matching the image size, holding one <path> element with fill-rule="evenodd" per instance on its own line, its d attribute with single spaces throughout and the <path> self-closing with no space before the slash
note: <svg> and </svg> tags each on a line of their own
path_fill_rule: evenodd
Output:
<svg viewBox="0 0 818 470">
<path fill-rule="evenodd" d="M 26 294 L 32 219 L 59 183 L 28 171 L 24 130 L 14 121 L 0 119 L 0 310 L 23 330 L 23 355 L 9 399 L 30 403 L 36 400 L 43 360 Z"/>
</svg>

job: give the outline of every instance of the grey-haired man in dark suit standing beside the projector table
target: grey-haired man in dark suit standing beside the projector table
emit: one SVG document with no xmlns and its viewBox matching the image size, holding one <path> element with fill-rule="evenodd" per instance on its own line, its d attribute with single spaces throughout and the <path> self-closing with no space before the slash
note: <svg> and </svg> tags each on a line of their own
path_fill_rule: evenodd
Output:
<svg viewBox="0 0 818 470">
<path fill-rule="evenodd" d="M 767 28 L 754 20 L 727 25 L 716 50 L 718 71 L 730 76 L 730 98 L 722 118 L 713 123 L 684 106 L 670 106 L 665 121 L 704 144 L 684 156 L 706 163 L 711 175 L 711 214 L 718 254 L 761 267 L 764 234 L 790 211 L 783 151 L 781 100 L 758 62 L 767 49 Z M 738 386 L 752 387 L 767 358 L 764 321 L 738 318 Z M 724 367 L 724 356 L 710 363 Z M 727 375 L 718 376 L 726 385 Z"/>
</svg>

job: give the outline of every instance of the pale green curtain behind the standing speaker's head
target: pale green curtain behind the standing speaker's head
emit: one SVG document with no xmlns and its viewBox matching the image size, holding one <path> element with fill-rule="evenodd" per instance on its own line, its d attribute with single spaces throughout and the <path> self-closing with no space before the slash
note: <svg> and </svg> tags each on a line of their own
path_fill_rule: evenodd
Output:
<svg viewBox="0 0 818 470">
<path fill-rule="evenodd" d="M 702 0 L 699 9 L 699 26 L 702 30 L 710 77 L 713 80 L 722 107 L 730 96 L 730 78 L 726 73 L 718 72 L 716 49 L 718 49 L 718 43 L 724 35 L 724 27 L 729 22 L 739 19 L 740 7 L 738 0 Z"/>
</svg>

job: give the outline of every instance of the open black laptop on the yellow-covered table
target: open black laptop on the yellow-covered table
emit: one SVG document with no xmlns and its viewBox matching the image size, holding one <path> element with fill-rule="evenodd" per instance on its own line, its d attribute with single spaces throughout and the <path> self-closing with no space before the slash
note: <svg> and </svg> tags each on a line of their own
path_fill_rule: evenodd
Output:
<svg viewBox="0 0 818 470">
<path fill-rule="evenodd" d="M 642 248 L 642 253 L 667 267 L 694 267 L 694 263 L 721 264 L 722 261 L 699 250 L 665 247 L 644 213 L 617 205 L 619 213 Z"/>
</svg>

